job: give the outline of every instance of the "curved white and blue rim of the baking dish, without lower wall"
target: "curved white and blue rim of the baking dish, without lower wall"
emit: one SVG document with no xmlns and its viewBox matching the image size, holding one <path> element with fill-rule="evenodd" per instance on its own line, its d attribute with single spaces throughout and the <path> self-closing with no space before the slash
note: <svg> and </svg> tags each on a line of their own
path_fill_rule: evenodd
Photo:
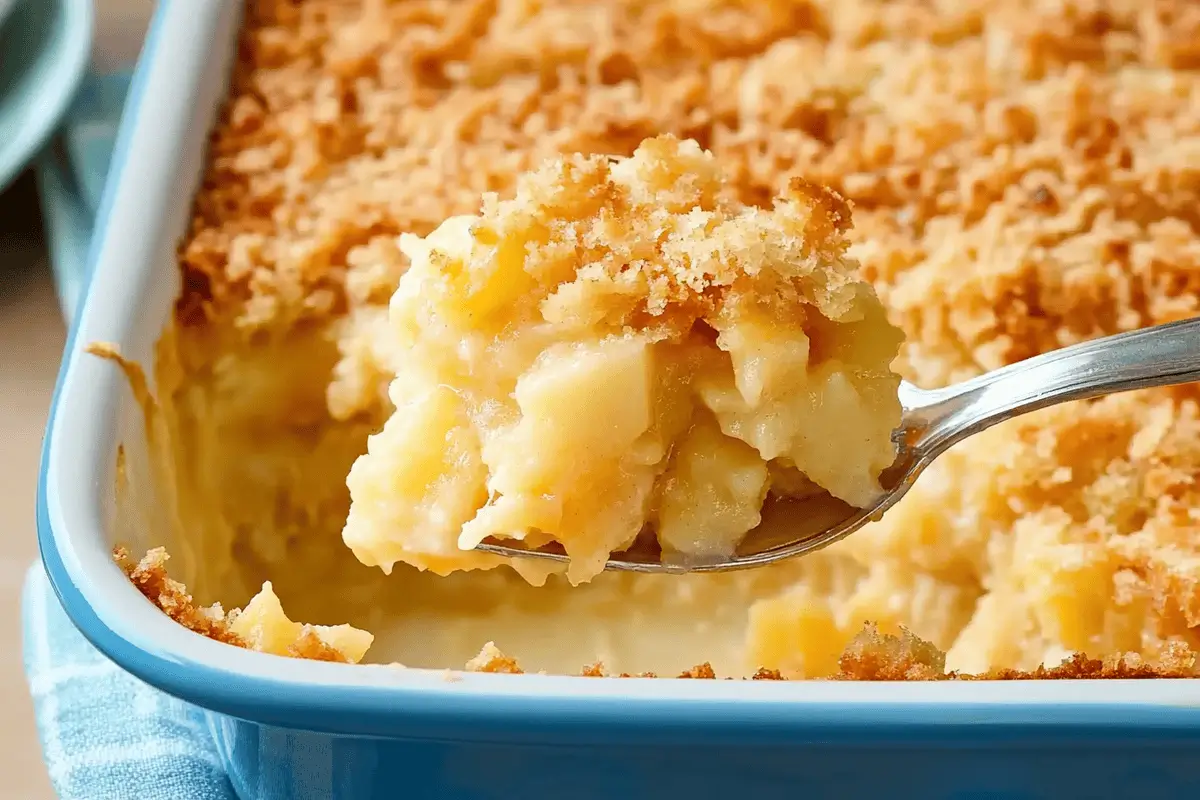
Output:
<svg viewBox="0 0 1200 800">
<path fill-rule="evenodd" d="M 136 360 L 150 359 L 176 290 L 178 277 L 164 267 L 174 243 L 167 233 L 182 230 L 206 122 L 223 90 L 216 56 L 232 53 L 239 13 L 234 0 L 160 4 L 121 124 L 89 253 L 88 291 L 43 443 L 42 559 L 70 618 L 121 667 L 214 711 L 346 734 L 443 732 L 512 741 L 550 729 L 556 738 L 584 739 L 605 732 L 611 739 L 619 730 L 623 741 L 635 744 L 640 736 L 661 741 L 670 730 L 677 740 L 730 735 L 743 744 L 757 736 L 780 744 L 814 735 L 824 741 L 911 736 L 919 729 L 949 740 L 960 735 L 949 730 L 980 723 L 1009 734 L 1060 724 L 1100 736 L 1114 726 L 1200 728 L 1200 681 L 842 684 L 476 674 L 446 680 L 436 670 L 268 656 L 170 621 L 110 558 L 104 486 L 112 483 L 102 476 L 113 469 L 114 420 L 131 401 L 110 365 L 80 353 L 88 342 L 110 341 Z"/>
</svg>

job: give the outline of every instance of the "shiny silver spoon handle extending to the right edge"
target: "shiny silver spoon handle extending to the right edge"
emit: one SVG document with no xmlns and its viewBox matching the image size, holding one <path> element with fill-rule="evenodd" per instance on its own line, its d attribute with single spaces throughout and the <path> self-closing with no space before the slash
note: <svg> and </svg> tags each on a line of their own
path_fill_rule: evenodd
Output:
<svg viewBox="0 0 1200 800">
<path fill-rule="evenodd" d="M 935 391 L 912 392 L 911 441 L 932 458 L 997 422 L 1068 401 L 1200 380 L 1200 318 L 1073 344 Z"/>
</svg>

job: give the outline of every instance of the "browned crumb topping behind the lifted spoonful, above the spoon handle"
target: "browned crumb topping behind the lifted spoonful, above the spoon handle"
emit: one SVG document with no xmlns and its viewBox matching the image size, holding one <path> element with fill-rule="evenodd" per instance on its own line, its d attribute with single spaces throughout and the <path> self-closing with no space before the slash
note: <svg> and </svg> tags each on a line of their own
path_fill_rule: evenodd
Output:
<svg viewBox="0 0 1200 800">
<path fill-rule="evenodd" d="M 1188 0 L 251 0 L 246 16 L 181 249 L 188 319 L 384 302 L 395 235 L 547 158 L 660 133 L 712 150 L 743 200 L 800 175 L 854 201 L 924 384 L 1195 309 Z"/>
</svg>

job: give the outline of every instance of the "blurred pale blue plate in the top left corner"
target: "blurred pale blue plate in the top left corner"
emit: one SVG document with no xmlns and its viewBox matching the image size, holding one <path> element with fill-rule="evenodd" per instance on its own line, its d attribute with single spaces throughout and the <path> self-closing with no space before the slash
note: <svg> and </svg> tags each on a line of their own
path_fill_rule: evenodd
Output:
<svg viewBox="0 0 1200 800">
<path fill-rule="evenodd" d="M 88 67 L 91 30 L 91 0 L 17 0 L 0 26 L 0 191 L 66 113 Z"/>
</svg>

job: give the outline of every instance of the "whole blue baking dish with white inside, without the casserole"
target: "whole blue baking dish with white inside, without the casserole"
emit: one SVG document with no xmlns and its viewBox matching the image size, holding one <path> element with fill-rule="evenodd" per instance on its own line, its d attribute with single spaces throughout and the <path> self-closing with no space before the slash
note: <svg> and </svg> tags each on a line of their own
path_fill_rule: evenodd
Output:
<svg viewBox="0 0 1200 800">
<path fill-rule="evenodd" d="M 133 78 L 54 396 L 37 495 L 84 636 L 205 711 L 245 798 L 1178 798 L 1200 790 L 1200 681 L 600 680 L 320 663 L 193 634 L 113 564 L 115 451 L 139 411 L 89 342 L 149 362 L 179 290 L 239 0 L 164 0 Z M 143 543 L 154 543 L 149 540 Z"/>
</svg>

